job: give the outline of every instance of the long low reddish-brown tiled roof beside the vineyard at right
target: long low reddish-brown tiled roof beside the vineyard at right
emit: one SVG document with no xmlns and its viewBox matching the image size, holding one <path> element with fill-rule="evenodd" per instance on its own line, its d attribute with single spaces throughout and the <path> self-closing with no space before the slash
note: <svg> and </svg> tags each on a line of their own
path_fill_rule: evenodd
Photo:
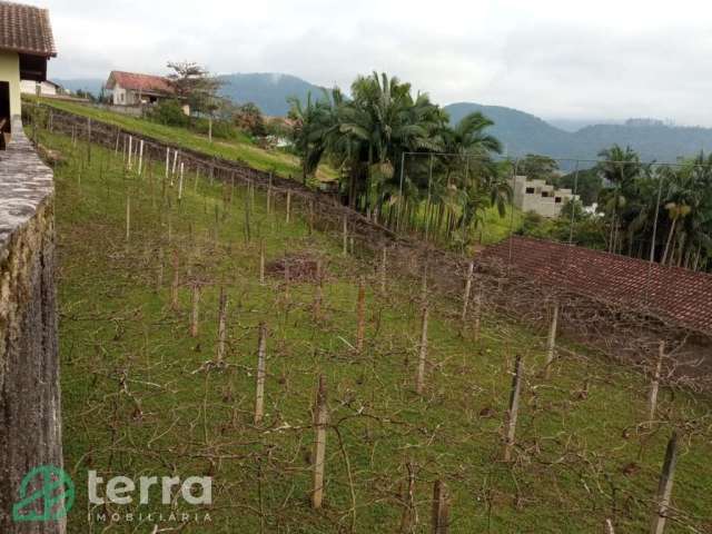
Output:
<svg viewBox="0 0 712 534">
<path fill-rule="evenodd" d="M 552 288 L 651 313 L 696 332 L 712 332 L 712 275 L 513 236 L 484 249 L 482 260 L 510 263 L 520 275 Z"/>
</svg>

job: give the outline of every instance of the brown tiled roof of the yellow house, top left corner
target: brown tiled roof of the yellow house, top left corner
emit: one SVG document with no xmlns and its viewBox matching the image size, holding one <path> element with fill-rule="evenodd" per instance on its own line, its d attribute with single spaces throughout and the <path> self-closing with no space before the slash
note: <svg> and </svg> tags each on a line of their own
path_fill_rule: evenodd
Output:
<svg viewBox="0 0 712 534">
<path fill-rule="evenodd" d="M 0 49 L 46 58 L 57 56 L 49 11 L 0 1 Z"/>
</svg>

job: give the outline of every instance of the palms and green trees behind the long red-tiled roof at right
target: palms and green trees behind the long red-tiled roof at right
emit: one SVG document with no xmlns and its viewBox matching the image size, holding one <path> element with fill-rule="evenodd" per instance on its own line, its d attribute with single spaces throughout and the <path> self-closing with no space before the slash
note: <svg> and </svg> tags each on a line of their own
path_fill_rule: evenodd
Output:
<svg viewBox="0 0 712 534">
<path fill-rule="evenodd" d="M 521 233 L 652 258 L 663 265 L 709 270 L 712 257 L 712 155 L 700 152 L 679 165 L 643 164 L 630 147 L 602 150 L 591 170 L 556 176 L 555 161 L 534 172 L 557 186 L 578 188 L 595 210 L 580 202 L 558 219 L 527 214 Z M 541 158 L 536 161 L 542 164 Z M 526 166 L 524 166 L 526 167 Z M 607 187 L 603 187 L 607 184 Z M 572 227 L 573 225 L 573 227 Z"/>
</svg>

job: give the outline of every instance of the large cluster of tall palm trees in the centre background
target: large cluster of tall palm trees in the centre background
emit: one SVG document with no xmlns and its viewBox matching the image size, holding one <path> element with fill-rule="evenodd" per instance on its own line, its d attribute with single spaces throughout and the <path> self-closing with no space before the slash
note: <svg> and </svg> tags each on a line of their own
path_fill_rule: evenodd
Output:
<svg viewBox="0 0 712 534">
<path fill-rule="evenodd" d="M 422 229 L 465 248 L 490 208 L 506 215 L 510 164 L 481 113 L 455 127 L 425 93 L 385 73 L 359 77 L 352 98 L 336 88 L 291 101 L 295 148 L 306 180 L 323 160 L 340 170 L 344 201 L 383 224 Z M 425 157 L 424 157 L 425 156 Z"/>
</svg>

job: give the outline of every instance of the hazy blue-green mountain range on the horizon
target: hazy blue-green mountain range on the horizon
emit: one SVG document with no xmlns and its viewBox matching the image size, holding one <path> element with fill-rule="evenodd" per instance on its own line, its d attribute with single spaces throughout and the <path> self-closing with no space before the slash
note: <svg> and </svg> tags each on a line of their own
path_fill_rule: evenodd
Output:
<svg viewBox="0 0 712 534">
<path fill-rule="evenodd" d="M 240 103 L 251 101 L 271 116 L 287 113 L 287 97 L 305 100 L 309 93 L 314 98 L 322 93 L 319 86 L 277 72 L 233 73 L 220 76 L 220 79 L 222 96 Z M 103 82 L 91 78 L 55 81 L 70 90 L 83 89 L 95 95 Z M 445 109 L 453 123 L 469 112 L 483 112 L 495 123 L 490 132 L 502 141 L 506 155 L 513 157 L 541 154 L 562 159 L 594 160 L 602 149 L 613 144 L 631 146 L 644 161 L 675 161 L 700 150 L 712 151 L 712 128 L 672 126 L 650 119 L 631 119 L 622 123 L 564 119 L 552 121 L 557 125 L 554 126 L 534 115 L 502 106 L 457 102 L 445 106 Z"/>
</svg>

